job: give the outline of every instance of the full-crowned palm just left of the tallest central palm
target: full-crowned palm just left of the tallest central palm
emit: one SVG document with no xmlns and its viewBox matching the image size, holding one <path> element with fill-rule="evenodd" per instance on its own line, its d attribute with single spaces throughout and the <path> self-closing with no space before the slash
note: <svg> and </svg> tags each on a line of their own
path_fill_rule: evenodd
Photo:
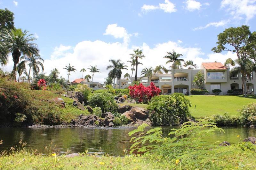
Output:
<svg viewBox="0 0 256 170">
<path fill-rule="evenodd" d="M 120 69 L 120 59 L 110 59 L 109 62 L 111 63 L 108 65 L 107 70 L 112 69 L 108 73 L 108 77 L 111 77 L 114 80 L 113 88 L 115 88 L 116 78 L 121 77 L 122 71 Z"/>
</svg>

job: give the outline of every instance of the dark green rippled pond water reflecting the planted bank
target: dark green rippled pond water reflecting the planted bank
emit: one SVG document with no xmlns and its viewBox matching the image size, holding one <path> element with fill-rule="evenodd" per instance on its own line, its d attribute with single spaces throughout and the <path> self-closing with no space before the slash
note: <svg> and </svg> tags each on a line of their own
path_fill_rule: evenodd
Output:
<svg viewBox="0 0 256 170">
<path fill-rule="evenodd" d="M 162 127 L 166 136 L 174 127 Z M 177 127 L 175 127 L 177 128 Z M 44 152 L 45 146 L 51 146 L 54 151 L 65 153 L 102 152 L 115 156 L 123 156 L 124 149 L 129 149 L 130 139 L 128 132 L 136 127 L 117 128 L 0 128 L 0 151 L 12 146 L 19 146 L 19 141 L 26 142 L 26 147 Z M 231 144 L 241 141 L 249 136 L 256 136 L 256 129 L 253 128 L 223 128 L 225 133 L 215 132 L 212 136 L 204 138 L 208 143 L 216 141 L 228 141 Z M 236 137 L 240 135 L 240 137 Z"/>
</svg>

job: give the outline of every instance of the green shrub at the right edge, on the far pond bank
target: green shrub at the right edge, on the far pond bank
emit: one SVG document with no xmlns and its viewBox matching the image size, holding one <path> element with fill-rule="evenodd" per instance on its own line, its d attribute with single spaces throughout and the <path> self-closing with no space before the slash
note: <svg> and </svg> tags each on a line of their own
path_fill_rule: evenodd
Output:
<svg viewBox="0 0 256 170">
<path fill-rule="evenodd" d="M 245 105 L 240 110 L 239 123 L 241 125 L 256 125 L 256 103 Z"/>
</svg>

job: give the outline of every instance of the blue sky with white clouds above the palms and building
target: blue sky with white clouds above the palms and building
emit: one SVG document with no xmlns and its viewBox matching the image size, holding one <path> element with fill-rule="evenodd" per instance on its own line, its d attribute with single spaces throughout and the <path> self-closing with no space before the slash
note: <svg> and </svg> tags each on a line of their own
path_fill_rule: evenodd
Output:
<svg viewBox="0 0 256 170">
<path fill-rule="evenodd" d="M 163 57 L 173 49 L 184 60 L 197 65 L 236 58 L 232 52 L 213 53 L 217 35 L 228 27 L 250 26 L 256 31 L 256 0 L 0 0 L 0 8 L 14 13 L 16 28 L 28 30 L 37 38 L 44 73 L 53 68 L 67 79 L 64 66 L 75 66 L 69 79 L 81 78 L 97 65 L 93 81 L 104 82 L 109 59 L 127 63 L 133 49 L 146 56 L 138 74 L 147 67 L 165 64 Z M 11 56 L 4 71 L 11 71 Z"/>
</svg>

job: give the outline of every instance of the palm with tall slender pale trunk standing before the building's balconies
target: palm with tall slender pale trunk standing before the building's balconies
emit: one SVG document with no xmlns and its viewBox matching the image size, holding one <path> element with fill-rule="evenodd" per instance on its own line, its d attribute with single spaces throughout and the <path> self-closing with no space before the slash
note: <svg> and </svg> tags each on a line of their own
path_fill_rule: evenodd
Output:
<svg viewBox="0 0 256 170">
<path fill-rule="evenodd" d="M 174 50 L 172 50 L 172 52 L 166 52 L 167 55 L 164 56 L 164 58 L 167 58 L 168 61 L 166 62 L 166 64 L 168 63 L 172 63 L 172 68 L 173 68 L 173 71 L 172 71 L 172 94 L 174 93 L 174 66 L 175 66 L 175 63 L 177 63 L 177 61 L 179 62 L 184 62 L 183 59 L 180 59 L 179 57 L 182 56 L 182 54 L 177 54 Z"/>
</svg>

